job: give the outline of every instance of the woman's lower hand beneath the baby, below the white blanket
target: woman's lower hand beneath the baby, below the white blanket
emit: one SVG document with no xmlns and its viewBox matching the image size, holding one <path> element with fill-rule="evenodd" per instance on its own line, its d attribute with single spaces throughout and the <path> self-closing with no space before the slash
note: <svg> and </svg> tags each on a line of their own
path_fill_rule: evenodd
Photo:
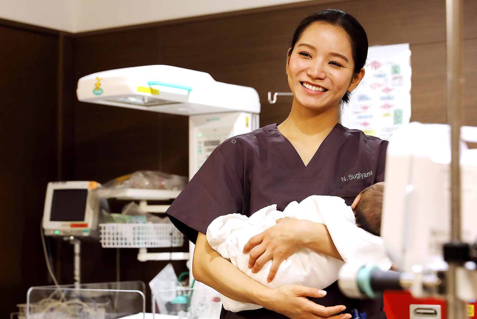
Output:
<svg viewBox="0 0 477 319">
<path fill-rule="evenodd" d="M 350 319 L 350 314 L 335 315 L 346 307 L 324 307 L 314 303 L 308 297 L 320 298 L 326 294 L 324 290 L 309 288 L 301 285 L 284 285 L 273 289 L 270 300 L 263 306 L 267 309 L 279 312 L 291 319 Z"/>
</svg>

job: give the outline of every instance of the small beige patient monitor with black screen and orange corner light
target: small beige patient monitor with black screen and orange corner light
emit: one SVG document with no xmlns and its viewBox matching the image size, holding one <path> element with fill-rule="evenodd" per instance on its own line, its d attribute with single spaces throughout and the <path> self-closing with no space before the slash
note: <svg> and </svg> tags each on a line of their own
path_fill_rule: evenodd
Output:
<svg viewBox="0 0 477 319">
<path fill-rule="evenodd" d="M 98 215 L 102 206 L 95 191 L 98 186 L 93 181 L 48 183 L 42 222 L 44 234 L 98 237 Z"/>
</svg>

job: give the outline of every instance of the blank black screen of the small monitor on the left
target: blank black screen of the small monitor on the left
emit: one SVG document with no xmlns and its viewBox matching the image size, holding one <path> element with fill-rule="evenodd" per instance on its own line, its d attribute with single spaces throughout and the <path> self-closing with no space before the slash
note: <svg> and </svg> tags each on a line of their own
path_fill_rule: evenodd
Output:
<svg viewBox="0 0 477 319">
<path fill-rule="evenodd" d="M 87 189 L 55 189 L 50 221 L 83 221 L 87 197 Z"/>
</svg>

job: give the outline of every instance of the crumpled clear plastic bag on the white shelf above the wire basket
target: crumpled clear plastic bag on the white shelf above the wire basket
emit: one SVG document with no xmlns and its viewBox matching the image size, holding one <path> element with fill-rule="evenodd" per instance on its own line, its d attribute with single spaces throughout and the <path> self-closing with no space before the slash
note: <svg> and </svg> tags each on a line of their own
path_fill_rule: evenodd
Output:
<svg viewBox="0 0 477 319">
<path fill-rule="evenodd" d="M 104 188 L 142 188 L 182 190 L 187 184 L 186 176 L 167 174 L 159 171 L 136 171 L 116 177 L 103 184 Z"/>
</svg>

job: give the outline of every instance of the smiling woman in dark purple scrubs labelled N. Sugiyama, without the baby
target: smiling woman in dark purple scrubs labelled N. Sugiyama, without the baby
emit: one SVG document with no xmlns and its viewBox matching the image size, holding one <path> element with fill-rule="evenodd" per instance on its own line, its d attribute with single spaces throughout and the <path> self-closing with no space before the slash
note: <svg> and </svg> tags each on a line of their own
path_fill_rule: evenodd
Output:
<svg viewBox="0 0 477 319">
<path fill-rule="evenodd" d="M 338 124 L 337 111 L 364 75 L 368 41 L 363 27 L 341 10 L 305 18 L 291 40 L 286 70 L 294 98 L 289 116 L 220 144 L 167 210 L 173 223 L 196 243 L 193 275 L 234 300 L 264 308 L 221 318 L 386 318 L 381 299 L 344 297 L 337 284 L 324 290 L 301 285 L 270 289 L 239 271 L 213 250 L 204 235 L 218 216 L 251 216 L 262 207 L 310 195 L 342 196 L 347 205 L 367 186 L 384 180 L 387 142 Z M 372 172 L 366 178 L 343 178 Z M 360 245 L 360 243 L 353 243 Z M 249 268 L 271 262 L 269 282 L 280 263 L 300 248 L 342 259 L 326 226 L 286 218 L 250 238 Z"/>
</svg>

